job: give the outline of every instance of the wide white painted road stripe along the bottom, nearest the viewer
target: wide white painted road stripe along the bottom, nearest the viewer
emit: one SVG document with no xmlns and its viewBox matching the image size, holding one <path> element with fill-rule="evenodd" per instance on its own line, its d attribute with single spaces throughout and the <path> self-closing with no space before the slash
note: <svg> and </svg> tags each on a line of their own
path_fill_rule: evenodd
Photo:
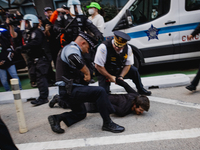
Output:
<svg viewBox="0 0 200 150">
<path fill-rule="evenodd" d="M 113 144 L 127 144 L 136 142 L 160 141 L 171 139 L 188 139 L 200 137 L 200 128 L 171 130 L 130 135 L 106 136 L 85 139 L 71 139 L 61 141 L 48 141 L 39 143 L 17 144 L 19 150 L 48 150 L 75 147 L 90 147 Z"/>
</svg>

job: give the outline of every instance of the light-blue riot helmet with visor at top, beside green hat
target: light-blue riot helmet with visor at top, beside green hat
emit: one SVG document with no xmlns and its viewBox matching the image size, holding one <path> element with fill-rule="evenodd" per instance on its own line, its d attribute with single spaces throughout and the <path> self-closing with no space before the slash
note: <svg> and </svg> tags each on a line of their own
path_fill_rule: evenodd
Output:
<svg viewBox="0 0 200 150">
<path fill-rule="evenodd" d="M 83 15 L 81 2 L 79 0 L 68 0 L 67 7 L 70 8 L 70 12 L 73 15 Z"/>
</svg>

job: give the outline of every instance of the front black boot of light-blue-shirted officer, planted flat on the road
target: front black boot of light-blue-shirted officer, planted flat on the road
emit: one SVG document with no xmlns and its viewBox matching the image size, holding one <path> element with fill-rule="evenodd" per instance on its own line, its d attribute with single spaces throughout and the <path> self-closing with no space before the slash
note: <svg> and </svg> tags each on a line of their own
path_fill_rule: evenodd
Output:
<svg viewBox="0 0 200 150">
<path fill-rule="evenodd" d="M 125 128 L 114 123 L 112 120 L 110 120 L 110 121 L 105 121 L 103 123 L 102 130 L 110 131 L 113 133 L 120 133 L 120 132 L 123 132 L 125 130 Z"/>
</svg>

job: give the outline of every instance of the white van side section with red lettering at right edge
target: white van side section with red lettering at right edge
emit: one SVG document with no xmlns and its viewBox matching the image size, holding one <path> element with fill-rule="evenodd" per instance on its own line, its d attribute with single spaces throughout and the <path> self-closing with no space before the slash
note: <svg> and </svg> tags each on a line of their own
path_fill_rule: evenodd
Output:
<svg viewBox="0 0 200 150">
<path fill-rule="evenodd" d="M 200 22 L 200 0 L 179 0 L 180 4 L 180 45 L 176 52 L 180 59 L 194 59 L 200 57 L 200 34 L 189 40 L 188 36 Z"/>
</svg>

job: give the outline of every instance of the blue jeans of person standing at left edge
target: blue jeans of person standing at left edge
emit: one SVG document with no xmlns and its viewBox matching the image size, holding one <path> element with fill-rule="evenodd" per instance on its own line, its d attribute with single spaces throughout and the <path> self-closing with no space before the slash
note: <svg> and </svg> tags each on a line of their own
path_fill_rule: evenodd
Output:
<svg viewBox="0 0 200 150">
<path fill-rule="evenodd" d="M 7 78 L 7 72 L 10 74 L 11 78 L 16 78 L 19 81 L 19 88 L 20 90 L 22 90 L 22 86 L 21 86 L 21 82 L 19 80 L 19 77 L 17 75 L 17 70 L 15 65 L 11 65 L 9 68 L 7 69 L 0 69 L 0 79 L 1 79 L 1 83 L 3 85 L 3 87 L 5 88 L 6 91 L 10 91 L 10 86 L 8 83 L 8 78 Z"/>
</svg>

